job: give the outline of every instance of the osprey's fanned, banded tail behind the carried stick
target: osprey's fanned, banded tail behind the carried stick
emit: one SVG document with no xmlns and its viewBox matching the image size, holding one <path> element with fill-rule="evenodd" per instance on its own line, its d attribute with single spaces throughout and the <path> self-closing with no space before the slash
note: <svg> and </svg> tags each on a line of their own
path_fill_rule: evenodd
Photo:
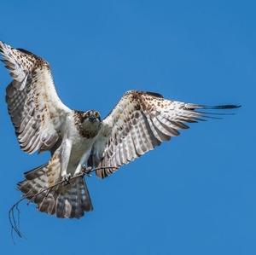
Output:
<svg viewBox="0 0 256 255">
<path fill-rule="evenodd" d="M 28 200 L 38 206 L 40 212 L 46 212 L 56 217 L 82 217 L 84 212 L 92 211 L 90 194 L 83 177 L 70 181 L 66 186 L 61 184 L 38 194 L 44 188 L 49 188 L 48 164 L 41 165 L 24 175 L 26 180 L 18 183 L 18 188 Z M 35 194 L 38 194 L 36 197 Z"/>
</svg>

